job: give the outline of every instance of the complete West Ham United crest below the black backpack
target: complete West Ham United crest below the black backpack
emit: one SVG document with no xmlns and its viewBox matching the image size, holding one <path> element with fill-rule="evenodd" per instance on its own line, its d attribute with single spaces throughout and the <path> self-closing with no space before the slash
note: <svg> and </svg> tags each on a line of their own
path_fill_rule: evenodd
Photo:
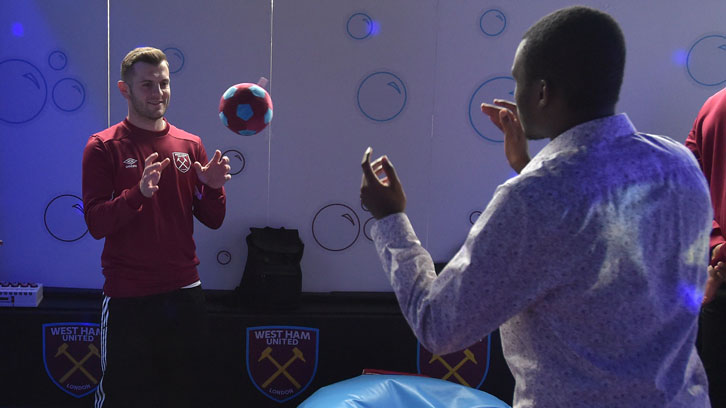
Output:
<svg viewBox="0 0 726 408">
<path fill-rule="evenodd" d="M 277 402 L 295 398 L 318 368 L 318 329 L 247 328 L 247 373 L 260 392 Z"/>
</svg>

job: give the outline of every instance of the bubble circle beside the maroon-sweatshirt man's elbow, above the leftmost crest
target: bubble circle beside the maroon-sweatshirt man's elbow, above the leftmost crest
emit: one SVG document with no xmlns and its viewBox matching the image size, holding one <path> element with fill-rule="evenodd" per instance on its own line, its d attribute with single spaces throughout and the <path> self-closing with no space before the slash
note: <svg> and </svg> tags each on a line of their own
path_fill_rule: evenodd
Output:
<svg viewBox="0 0 726 408">
<path fill-rule="evenodd" d="M 83 216 L 83 200 L 73 194 L 61 194 L 50 200 L 43 213 L 45 229 L 55 239 L 74 242 L 88 233 Z"/>
</svg>

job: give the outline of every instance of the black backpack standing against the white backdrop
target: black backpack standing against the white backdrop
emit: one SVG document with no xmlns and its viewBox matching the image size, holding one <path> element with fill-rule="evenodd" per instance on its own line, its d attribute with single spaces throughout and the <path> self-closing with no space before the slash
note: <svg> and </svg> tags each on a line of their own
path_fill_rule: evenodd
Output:
<svg viewBox="0 0 726 408">
<path fill-rule="evenodd" d="M 297 307 L 304 247 L 296 229 L 250 228 L 247 262 L 238 287 L 241 303 L 252 308 Z"/>
</svg>

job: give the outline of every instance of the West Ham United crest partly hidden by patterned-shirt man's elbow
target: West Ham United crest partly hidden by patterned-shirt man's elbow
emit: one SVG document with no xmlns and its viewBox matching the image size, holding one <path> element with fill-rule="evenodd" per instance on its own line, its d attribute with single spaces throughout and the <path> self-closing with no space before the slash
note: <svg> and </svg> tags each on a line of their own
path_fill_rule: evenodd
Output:
<svg viewBox="0 0 726 408">
<path fill-rule="evenodd" d="M 418 343 L 418 372 L 479 388 L 489 371 L 490 348 L 489 336 L 464 350 L 445 355 L 433 354 Z"/>
</svg>

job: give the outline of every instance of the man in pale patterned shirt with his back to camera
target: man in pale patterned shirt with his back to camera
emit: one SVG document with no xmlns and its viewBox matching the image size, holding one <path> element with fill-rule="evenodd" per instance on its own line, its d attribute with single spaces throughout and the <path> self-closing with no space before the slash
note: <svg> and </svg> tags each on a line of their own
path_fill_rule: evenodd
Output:
<svg viewBox="0 0 726 408">
<path fill-rule="evenodd" d="M 516 105 L 482 110 L 520 172 L 436 276 L 385 156 L 363 159 L 361 200 L 409 325 L 437 354 L 500 327 L 514 407 L 708 407 L 696 353 L 711 206 L 690 152 L 615 115 L 625 42 L 569 7 L 524 34 Z M 551 141 L 530 160 L 527 139 Z"/>
</svg>

